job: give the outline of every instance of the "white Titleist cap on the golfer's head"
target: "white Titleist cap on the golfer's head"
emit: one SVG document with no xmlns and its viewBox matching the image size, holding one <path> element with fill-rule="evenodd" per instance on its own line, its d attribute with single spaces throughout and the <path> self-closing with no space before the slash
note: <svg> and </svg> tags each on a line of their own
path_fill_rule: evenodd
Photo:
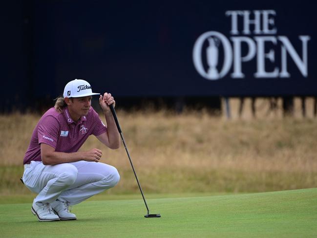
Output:
<svg viewBox="0 0 317 238">
<path fill-rule="evenodd" d="M 64 88 L 64 98 L 79 98 L 91 95 L 100 95 L 91 90 L 90 84 L 82 79 L 75 79 L 66 84 Z"/>
</svg>

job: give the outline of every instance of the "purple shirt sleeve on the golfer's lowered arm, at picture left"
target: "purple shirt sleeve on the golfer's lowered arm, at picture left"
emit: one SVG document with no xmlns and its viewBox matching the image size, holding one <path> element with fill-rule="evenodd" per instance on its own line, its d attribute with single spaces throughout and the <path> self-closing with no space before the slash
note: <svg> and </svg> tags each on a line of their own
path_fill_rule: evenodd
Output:
<svg viewBox="0 0 317 238">
<path fill-rule="evenodd" d="M 60 124 L 52 116 L 42 118 L 38 127 L 39 144 L 44 143 L 56 148 Z"/>
</svg>

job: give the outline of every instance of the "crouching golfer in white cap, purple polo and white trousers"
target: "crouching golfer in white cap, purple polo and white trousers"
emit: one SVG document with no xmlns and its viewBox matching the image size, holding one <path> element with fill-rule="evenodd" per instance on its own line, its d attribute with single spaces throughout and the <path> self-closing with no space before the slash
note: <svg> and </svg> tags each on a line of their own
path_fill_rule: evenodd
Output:
<svg viewBox="0 0 317 238">
<path fill-rule="evenodd" d="M 100 95 L 107 127 L 91 107 L 93 93 L 85 80 L 66 84 L 63 97 L 48 109 L 33 130 L 25 153 L 22 180 L 37 193 L 31 211 L 40 221 L 75 220 L 69 205 L 114 187 L 120 179 L 116 168 L 98 163 L 102 151 L 77 152 L 89 135 L 111 149 L 120 147 L 120 134 L 109 105 L 110 93 Z"/>
</svg>

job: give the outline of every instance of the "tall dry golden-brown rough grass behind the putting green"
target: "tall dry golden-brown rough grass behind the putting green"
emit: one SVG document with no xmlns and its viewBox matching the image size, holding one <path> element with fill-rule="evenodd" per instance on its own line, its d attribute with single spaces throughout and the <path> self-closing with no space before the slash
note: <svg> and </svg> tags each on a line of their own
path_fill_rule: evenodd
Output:
<svg viewBox="0 0 317 238">
<path fill-rule="evenodd" d="M 309 112 L 310 118 L 302 118 L 298 111 L 295 117 L 283 118 L 281 111 L 267 113 L 265 107 L 254 119 L 248 104 L 245 108 L 241 119 L 234 114 L 232 120 L 205 110 L 176 115 L 166 110 L 127 113 L 118 109 L 143 189 L 147 193 L 182 193 L 316 187 L 317 120 Z M 28 193 L 19 176 L 40 117 L 0 116 L 0 194 Z M 108 193 L 138 192 L 123 146 L 110 150 L 90 136 L 81 151 L 91 148 L 101 149 L 102 162 L 114 165 L 121 174 L 119 184 Z"/>
</svg>

